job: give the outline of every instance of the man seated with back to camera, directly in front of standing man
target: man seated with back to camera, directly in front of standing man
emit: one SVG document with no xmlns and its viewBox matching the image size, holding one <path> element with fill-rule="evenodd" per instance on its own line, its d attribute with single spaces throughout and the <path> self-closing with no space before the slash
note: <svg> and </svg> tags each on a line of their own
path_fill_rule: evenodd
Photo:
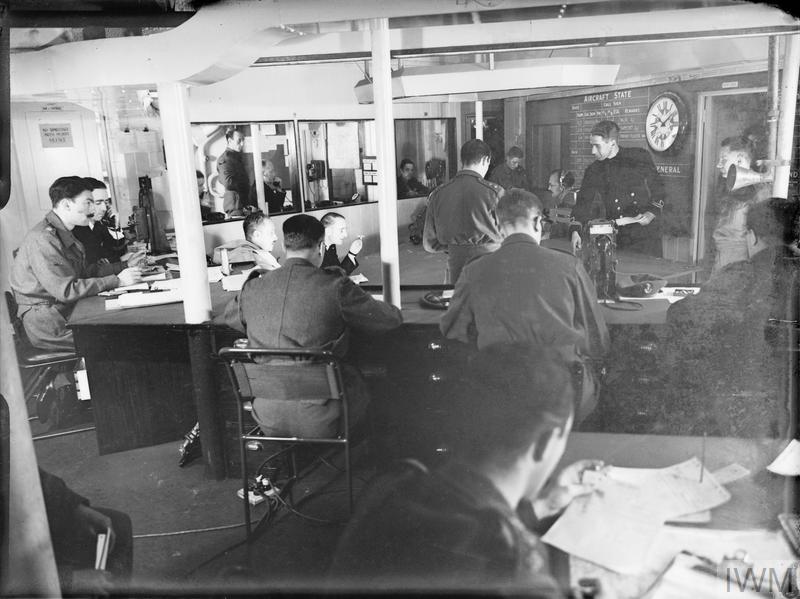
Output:
<svg viewBox="0 0 800 599">
<path fill-rule="evenodd" d="M 478 349 L 519 341 L 552 348 L 580 371 L 580 422 L 596 406 L 595 365 L 609 349 L 608 329 L 580 261 L 539 245 L 543 218 L 528 191 L 515 188 L 500 198 L 503 243 L 464 268 L 440 328 Z"/>
</svg>

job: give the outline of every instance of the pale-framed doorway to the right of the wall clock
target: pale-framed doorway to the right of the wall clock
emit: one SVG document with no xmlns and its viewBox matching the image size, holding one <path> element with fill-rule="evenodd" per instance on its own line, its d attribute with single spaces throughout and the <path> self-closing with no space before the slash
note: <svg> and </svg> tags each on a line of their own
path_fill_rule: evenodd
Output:
<svg viewBox="0 0 800 599">
<path fill-rule="evenodd" d="M 725 193 L 725 181 L 717 169 L 720 143 L 727 137 L 752 135 L 755 160 L 766 158 L 766 88 L 723 90 L 698 97 L 698 134 L 695 155 L 692 211 L 693 260 L 710 269 L 717 221 L 717 198 Z"/>
</svg>

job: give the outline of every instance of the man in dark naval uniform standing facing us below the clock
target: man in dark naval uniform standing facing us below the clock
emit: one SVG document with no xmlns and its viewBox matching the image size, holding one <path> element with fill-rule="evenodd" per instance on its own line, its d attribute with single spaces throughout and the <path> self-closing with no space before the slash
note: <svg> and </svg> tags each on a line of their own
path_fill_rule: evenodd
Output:
<svg viewBox="0 0 800 599">
<path fill-rule="evenodd" d="M 596 160 L 583 174 L 572 211 L 572 249 L 581 248 L 582 228 L 590 220 L 606 218 L 618 221 L 619 247 L 660 257 L 661 227 L 656 217 L 664 207 L 664 184 L 647 150 L 621 148 L 618 140 L 619 127 L 613 121 L 600 121 L 589 133 Z"/>
</svg>

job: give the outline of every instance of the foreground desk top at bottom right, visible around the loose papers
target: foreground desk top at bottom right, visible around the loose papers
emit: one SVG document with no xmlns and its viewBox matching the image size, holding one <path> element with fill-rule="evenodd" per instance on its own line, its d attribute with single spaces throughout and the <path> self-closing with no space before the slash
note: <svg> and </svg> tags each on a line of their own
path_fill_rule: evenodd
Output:
<svg viewBox="0 0 800 599">
<path fill-rule="evenodd" d="M 596 458 L 614 466 L 660 468 L 692 456 L 699 457 L 702 454 L 702 443 L 702 437 L 573 433 L 567 442 L 561 465 L 568 465 L 579 459 Z M 786 441 L 777 439 L 709 437 L 705 451 L 708 470 L 714 471 L 737 462 L 750 470 L 751 474 L 727 486 L 732 495 L 731 500 L 712 510 L 711 522 L 698 528 L 777 529 L 777 514 L 787 511 L 786 501 L 792 481 L 768 472 L 765 467 L 785 445 Z M 721 556 L 708 557 L 718 559 Z M 752 557 L 757 560 L 774 558 L 758 555 Z M 556 574 L 562 582 L 566 582 L 564 560 L 557 559 L 555 562 Z M 586 576 L 601 580 L 604 597 L 620 599 L 641 597 L 653 578 L 623 576 L 570 557 L 568 577 L 571 582 L 575 584 L 579 578 Z"/>
</svg>

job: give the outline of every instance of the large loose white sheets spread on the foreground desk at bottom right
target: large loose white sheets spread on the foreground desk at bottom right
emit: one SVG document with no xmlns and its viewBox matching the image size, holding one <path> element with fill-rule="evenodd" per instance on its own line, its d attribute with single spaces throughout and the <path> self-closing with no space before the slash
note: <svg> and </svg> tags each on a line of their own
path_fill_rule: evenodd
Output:
<svg viewBox="0 0 800 599">
<path fill-rule="evenodd" d="M 542 540 L 615 572 L 641 572 L 664 522 L 730 499 L 710 472 L 700 482 L 701 468 L 697 458 L 668 468 L 610 468 L 596 491 L 573 500 Z"/>
</svg>

